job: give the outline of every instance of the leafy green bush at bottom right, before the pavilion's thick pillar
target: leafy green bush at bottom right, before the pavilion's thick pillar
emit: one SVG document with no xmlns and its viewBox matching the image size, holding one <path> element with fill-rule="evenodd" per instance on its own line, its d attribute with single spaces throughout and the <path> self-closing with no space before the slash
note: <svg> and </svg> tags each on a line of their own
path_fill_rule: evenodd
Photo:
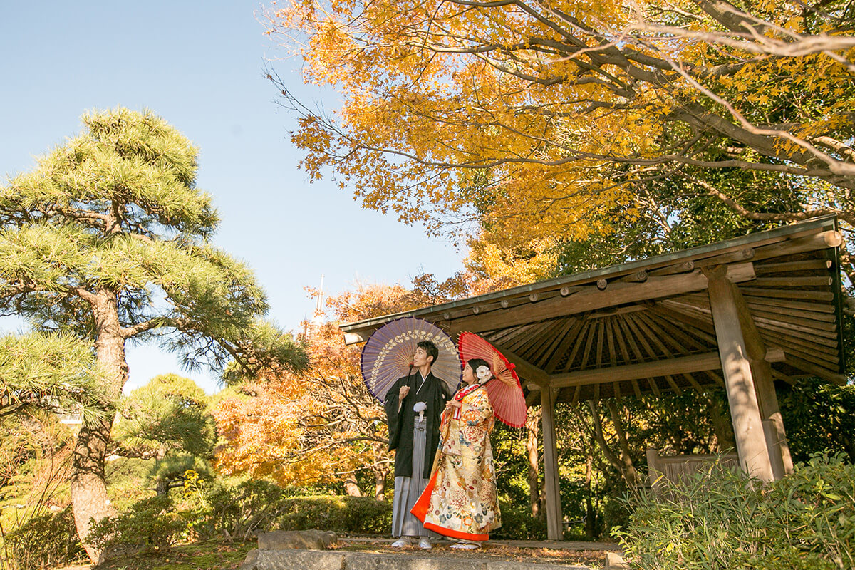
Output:
<svg viewBox="0 0 855 570">
<path fill-rule="evenodd" d="M 634 499 L 628 530 L 616 530 L 643 570 L 855 567 L 855 465 L 817 454 L 763 485 L 713 466 L 663 498 Z"/>
</svg>

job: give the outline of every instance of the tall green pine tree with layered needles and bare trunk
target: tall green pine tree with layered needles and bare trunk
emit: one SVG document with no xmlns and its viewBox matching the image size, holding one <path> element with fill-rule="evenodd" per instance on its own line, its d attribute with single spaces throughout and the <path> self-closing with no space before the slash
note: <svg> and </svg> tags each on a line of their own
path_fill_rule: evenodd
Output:
<svg viewBox="0 0 855 570">
<path fill-rule="evenodd" d="M 0 309 L 44 335 L 77 339 L 88 346 L 85 363 L 94 360 L 99 391 L 87 406 L 100 413 L 84 414 L 71 497 L 80 539 L 99 561 L 87 535 L 93 520 L 115 514 L 104 455 L 128 341 L 154 340 L 188 366 L 230 366 L 233 375 L 302 369 L 306 356 L 262 320 L 268 304 L 251 270 L 209 243 L 218 216 L 196 187 L 191 142 L 150 111 L 82 120 L 83 132 L 0 187 Z"/>
</svg>

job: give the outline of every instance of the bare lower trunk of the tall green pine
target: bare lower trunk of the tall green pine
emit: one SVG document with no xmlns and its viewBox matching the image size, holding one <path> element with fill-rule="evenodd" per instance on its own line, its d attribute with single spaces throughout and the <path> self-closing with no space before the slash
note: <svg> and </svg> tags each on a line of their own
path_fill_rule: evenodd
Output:
<svg viewBox="0 0 855 570">
<path fill-rule="evenodd" d="M 127 381 L 128 368 L 115 293 L 98 291 L 92 302 L 92 309 L 97 332 L 96 361 L 98 373 L 103 375 L 106 401 L 103 403 L 103 415 L 98 418 L 84 418 L 80 428 L 72 462 L 71 502 L 74 508 L 74 526 L 77 527 L 80 543 L 91 561 L 97 565 L 103 561 L 104 551 L 90 544 L 86 537 L 91 531 L 93 521 L 97 522 L 116 514 L 107 495 L 104 457 L 113 426 L 114 403 L 121 396 L 121 389 Z"/>
</svg>

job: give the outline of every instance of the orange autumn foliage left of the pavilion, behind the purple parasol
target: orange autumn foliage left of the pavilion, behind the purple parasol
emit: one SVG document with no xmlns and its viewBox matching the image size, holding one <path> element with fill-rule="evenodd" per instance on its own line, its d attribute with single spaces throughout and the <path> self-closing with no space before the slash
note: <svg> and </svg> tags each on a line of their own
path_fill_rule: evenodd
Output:
<svg viewBox="0 0 855 570">
<path fill-rule="evenodd" d="M 311 366 L 244 385 L 224 399 L 214 415 L 224 444 L 216 465 L 280 485 L 325 485 L 369 469 L 382 486 L 391 467 L 386 414 L 363 384 L 361 346 L 345 346 L 339 324 L 415 309 L 445 300 L 442 291 L 463 291 L 460 276 L 438 283 L 416 278 L 400 285 L 360 286 L 327 300 L 332 322 L 307 326 Z"/>
</svg>

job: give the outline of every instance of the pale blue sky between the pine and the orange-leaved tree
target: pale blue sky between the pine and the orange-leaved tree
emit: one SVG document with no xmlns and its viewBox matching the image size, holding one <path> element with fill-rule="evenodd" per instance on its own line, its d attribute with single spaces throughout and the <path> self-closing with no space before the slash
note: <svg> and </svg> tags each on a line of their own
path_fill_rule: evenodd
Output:
<svg viewBox="0 0 855 570">
<path fill-rule="evenodd" d="M 86 110 L 148 108 L 199 147 L 198 186 L 222 218 L 215 244 L 255 270 L 280 326 L 296 330 L 310 316 L 304 286 L 321 273 L 334 294 L 357 279 L 406 285 L 422 269 L 444 279 L 461 268 L 452 244 L 298 170 L 292 118 L 262 74 L 286 54 L 263 35 L 261 9 L 254 0 L 4 2 L 0 176 L 32 169 L 35 156 L 80 132 Z M 299 61 L 273 67 L 293 91 L 320 97 L 301 86 Z M 334 94 L 324 103 L 334 107 Z M 126 390 L 168 372 L 217 390 L 212 374 L 181 372 L 156 346 L 129 347 L 128 363 Z"/>
</svg>

